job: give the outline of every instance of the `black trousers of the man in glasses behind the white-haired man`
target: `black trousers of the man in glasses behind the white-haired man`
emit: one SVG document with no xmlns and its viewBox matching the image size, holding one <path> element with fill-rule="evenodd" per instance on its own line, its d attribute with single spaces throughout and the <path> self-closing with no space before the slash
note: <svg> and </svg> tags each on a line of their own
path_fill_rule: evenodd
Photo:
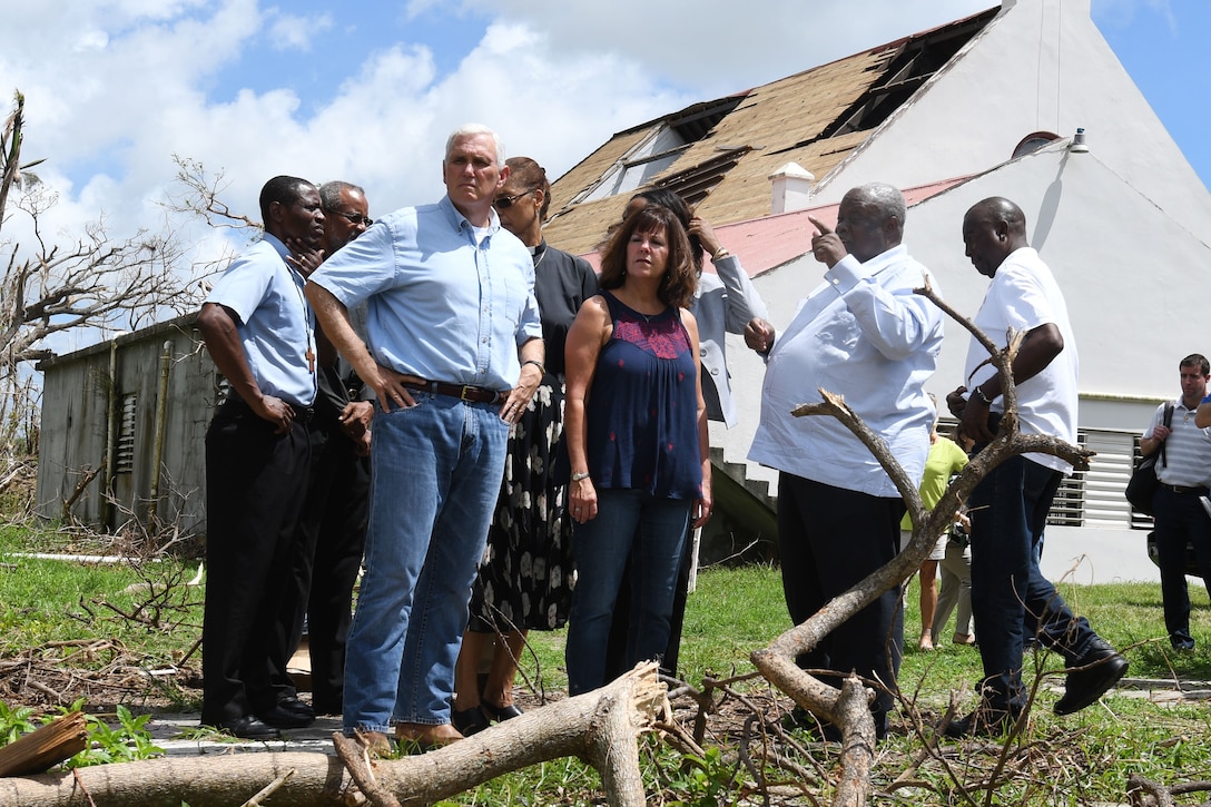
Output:
<svg viewBox="0 0 1211 807">
<path fill-rule="evenodd" d="M 345 642 L 352 622 L 354 583 L 366 548 L 371 465 L 332 422 L 315 451 L 298 553 L 286 596 L 293 608 L 289 649 L 298 649 L 306 616 L 311 694 L 317 714 L 344 706 Z"/>
</svg>

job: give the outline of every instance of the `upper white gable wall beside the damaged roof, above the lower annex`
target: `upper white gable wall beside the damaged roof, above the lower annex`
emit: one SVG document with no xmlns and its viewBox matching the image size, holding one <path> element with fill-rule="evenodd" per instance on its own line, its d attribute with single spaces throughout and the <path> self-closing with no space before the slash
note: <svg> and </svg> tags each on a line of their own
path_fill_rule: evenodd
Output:
<svg viewBox="0 0 1211 807">
<path fill-rule="evenodd" d="M 1127 185 L 1211 233 L 1211 196 L 1094 25 L 1089 0 L 1004 8 L 821 181 L 813 204 L 865 182 L 911 188 L 987 171 L 1032 132 L 1071 138 L 1078 126 Z"/>
</svg>

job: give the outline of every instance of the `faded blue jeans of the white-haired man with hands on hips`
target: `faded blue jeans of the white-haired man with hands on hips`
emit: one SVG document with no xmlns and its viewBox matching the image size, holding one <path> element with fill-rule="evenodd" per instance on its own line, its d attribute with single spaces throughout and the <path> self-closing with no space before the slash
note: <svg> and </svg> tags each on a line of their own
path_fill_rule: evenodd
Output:
<svg viewBox="0 0 1211 807">
<path fill-rule="evenodd" d="M 412 395 L 414 407 L 374 416 L 346 732 L 449 722 L 466 603 L 504 475 L 509 425 L 497 406 Z"/>
</svg>

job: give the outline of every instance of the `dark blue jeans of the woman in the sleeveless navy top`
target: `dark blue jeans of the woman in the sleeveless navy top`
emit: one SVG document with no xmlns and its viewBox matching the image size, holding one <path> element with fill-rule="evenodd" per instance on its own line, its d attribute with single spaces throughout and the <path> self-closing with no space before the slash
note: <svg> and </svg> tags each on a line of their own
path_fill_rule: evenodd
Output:
<svg viewBox="0 0 1211 807">
<path fill-rule="evenodd" d="M 643 491 L 597 491 L 597 517 L 575 525 L 572 555 L 576 588 L 568 614 L 568 692 L 606 683 L 606 648 L 619 585 L 631 561 L 627 669 L 659 659 L 668 646 L 668 619 L 693 502 Z"/>
</svg>

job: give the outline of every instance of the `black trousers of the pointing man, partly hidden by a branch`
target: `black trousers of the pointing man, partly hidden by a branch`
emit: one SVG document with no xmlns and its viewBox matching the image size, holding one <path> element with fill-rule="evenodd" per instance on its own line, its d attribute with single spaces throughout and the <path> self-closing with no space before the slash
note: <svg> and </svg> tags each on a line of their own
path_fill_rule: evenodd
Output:
<svg viewBox="0 0 1211 807">
<path fill-rule="evenodd" d="M 777 481 L 777 544 L 782 590 L 794 624 L 890 561 L 900 550 L 900 498 L 880 498 L 782 473 Z M 821 680 L 839 687 L 856 671 L 895 691 L 903 654 L 900 586 L 839 625 L 817 647 L 799 656 L 804 669 L 836 670 Z M 878 688 L 877 688 L 878 691 Z M 871 710 L 891 710 L 894 698 L 879 692 Z"/>
</svg>

